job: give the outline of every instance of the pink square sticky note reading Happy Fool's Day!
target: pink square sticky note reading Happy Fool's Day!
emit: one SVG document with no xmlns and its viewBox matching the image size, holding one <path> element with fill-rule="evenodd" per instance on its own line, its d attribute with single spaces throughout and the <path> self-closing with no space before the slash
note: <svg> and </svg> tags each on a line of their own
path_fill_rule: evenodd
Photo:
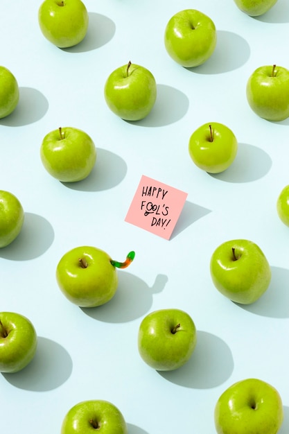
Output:
<svg viewBox="0 0 289 434">
<path fill-rule="evenodd" d="M 143 175 L 125 221 L 168 240 L 187 196 L 184 191 Z"/>
</svg>

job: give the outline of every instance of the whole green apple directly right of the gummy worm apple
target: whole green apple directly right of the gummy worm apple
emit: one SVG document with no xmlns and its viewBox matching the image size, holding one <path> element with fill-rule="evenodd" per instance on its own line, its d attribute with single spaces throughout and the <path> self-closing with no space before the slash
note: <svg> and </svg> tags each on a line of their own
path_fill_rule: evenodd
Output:
<svg viewBox="0 0 289 434">
<path fill-rule="evenodd" d="M 211 256 L 211 278 L 222 295 L 240 304 L 256 302 L 271 280 L 271 268 L 258 245 L 238 239 L 222 243 Z"/>
</svg>

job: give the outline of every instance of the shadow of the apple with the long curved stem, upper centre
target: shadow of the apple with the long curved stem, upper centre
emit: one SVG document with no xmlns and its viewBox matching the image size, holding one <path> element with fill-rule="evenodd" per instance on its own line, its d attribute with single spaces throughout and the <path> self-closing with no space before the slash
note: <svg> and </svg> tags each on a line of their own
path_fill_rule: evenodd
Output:
<svg viewBox="0 0 289 434">
<path fill-rule="evenodd" d="M 157 85 L 157 100 L 151 112 L 140 121 L 125 121 L 141 127 L 163 127 L 182 119 L 189 110 L 189 98 L 175 87 Z"/>
</svg>

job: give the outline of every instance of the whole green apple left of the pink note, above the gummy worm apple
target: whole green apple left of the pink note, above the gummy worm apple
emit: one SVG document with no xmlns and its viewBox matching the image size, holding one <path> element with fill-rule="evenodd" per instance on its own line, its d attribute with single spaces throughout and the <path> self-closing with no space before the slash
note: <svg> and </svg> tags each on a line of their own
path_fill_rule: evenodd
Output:
<svg viewBox="0 0 289 434">
<path fill-rule="evenodd" d="M 84 180 L 96 162 L 96 147 L 78 128 L 58 128 L 46 134 L 40 147 L 46 171 L 61 182 Z"/>
</svg>

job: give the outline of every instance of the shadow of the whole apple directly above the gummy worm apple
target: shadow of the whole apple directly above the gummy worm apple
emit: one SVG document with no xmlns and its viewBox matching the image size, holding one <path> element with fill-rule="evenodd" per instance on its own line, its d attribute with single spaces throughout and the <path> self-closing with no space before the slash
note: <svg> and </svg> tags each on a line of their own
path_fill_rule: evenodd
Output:
<svg viewBox="0 0 289 434">
<path fill-rule="evenodd" d="M 120 184 L 128 171 L 124 159 L 109 150 L 97 148 L 96 152 L 96 164 L 85 180 L 62 184 L 78 191 L 103 191 Z"/>
</svg>

